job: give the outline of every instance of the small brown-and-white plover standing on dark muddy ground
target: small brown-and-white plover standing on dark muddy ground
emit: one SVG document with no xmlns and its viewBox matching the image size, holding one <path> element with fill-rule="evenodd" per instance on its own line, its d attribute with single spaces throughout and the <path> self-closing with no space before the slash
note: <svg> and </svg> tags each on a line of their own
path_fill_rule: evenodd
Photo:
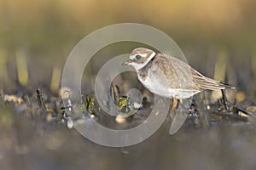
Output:
<svg viewBox="0 0 256 170">
<path fill-rule="evenodd" d="M 233 88 L 203 76 L 183 60 L 149 48 L 135 48 L 122 65 L 134 67 L 137 78 L 150 92 L 170 99 L 189 99 L 204 90 Z"/>
</svg>

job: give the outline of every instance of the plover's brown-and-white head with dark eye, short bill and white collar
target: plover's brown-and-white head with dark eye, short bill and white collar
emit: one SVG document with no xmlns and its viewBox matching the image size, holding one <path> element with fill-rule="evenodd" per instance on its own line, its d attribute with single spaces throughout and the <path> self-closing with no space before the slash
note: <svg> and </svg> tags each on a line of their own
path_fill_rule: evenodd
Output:
<svg viewBox="0 0 256 170">
<path fill-rule="evenodd" d="M 123 65 L 132 65 L 138 71 L 147 65 L 154 58 L 155 54 L 154 51 L 148 48 L 135 48 Z"/>
</svg>

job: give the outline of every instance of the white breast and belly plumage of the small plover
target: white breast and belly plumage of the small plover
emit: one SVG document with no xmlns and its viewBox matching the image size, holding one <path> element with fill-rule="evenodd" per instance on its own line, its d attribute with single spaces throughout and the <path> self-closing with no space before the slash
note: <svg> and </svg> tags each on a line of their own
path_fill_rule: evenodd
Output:
<svg viewBox="0 0 256 170">
<path fill-rule="evenodd" d="M 158 94 L 160 96 L 166 98 L 176 98 L 176 99 L 187 99 L 192 97 L 193 95 L 201 92 L 199 90 L 191 90 L 191 89 L 182 89 L 182 88 L 168 88 L 163 86 L 156 77 L 148 78 L 145 80 L 138 77 L 139 81 L 143 83 L 145 88 L 154 94 Z"/>
</svg>

